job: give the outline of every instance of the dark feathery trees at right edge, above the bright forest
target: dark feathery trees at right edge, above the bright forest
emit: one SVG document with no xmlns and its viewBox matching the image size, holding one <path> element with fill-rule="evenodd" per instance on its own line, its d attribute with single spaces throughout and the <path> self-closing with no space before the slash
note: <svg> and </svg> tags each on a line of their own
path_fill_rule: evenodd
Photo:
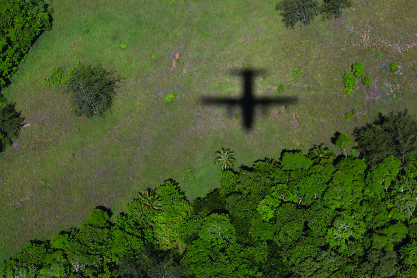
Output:
<svg viewBox="0 0 417 278">
<path fill-rule="evenodd" d="M 397 115 L 380 113 L 373 124 L 355 128 L 354 135 L 357 142 L 354 148 L 372 165 L 389 155 L 404 165 L 407 158 L 417 153 L 417 122 L 407 115 L 407 110 Z"/>
</svg>

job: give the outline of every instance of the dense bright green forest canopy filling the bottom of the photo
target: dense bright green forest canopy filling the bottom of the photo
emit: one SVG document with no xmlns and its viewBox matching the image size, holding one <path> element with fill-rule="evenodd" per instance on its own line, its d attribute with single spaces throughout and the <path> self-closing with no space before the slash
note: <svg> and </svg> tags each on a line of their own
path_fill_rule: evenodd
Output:
<svg viewBox="0 0 417 278">
<path fill-rule="evenodd" d="M 316 147 L 238 171 L 222 149 L 228 166 L 205 197 L 191 203 L 166 180 L 114 222 L 97 207 L 79 228 L 30 241 L 0 277 L 416 277 L 415 159 Z"/>
</svg>

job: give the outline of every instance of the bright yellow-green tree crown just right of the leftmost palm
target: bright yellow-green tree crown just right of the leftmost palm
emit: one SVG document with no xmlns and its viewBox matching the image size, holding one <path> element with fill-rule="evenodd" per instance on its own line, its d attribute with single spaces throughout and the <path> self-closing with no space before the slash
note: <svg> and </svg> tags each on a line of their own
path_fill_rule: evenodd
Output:
<svg viewBox="0 0 417 278">
<path fill-rule="evenodd" d="M 183 248 L 179 240 L 179 229 L 191 214 L 191 205 L 178 183 L 167 180 L 157 188 L 161 196 L 159 202 L 163 213 L 157 214 L 153 221 L 154 232 L 161 248 Z"/>
</svg>

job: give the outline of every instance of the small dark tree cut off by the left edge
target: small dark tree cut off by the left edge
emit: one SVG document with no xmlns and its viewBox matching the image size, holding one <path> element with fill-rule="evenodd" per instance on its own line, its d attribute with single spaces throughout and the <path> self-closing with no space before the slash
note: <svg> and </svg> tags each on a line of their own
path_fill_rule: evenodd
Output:
<svg viewBox="0 0 417 278">
<path fill-rule="evenodd" d="M 19 137 L 20 127 L 24 118 L 16 111 L 16 104 L 8 103 L 0 106 L 0 151 L 13 144 Z"/>
</svg>

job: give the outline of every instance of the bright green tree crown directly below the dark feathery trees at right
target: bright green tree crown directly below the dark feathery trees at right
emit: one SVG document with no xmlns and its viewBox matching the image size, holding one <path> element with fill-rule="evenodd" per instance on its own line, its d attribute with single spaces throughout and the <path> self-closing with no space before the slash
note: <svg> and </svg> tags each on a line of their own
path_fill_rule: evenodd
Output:
<svg viewBox="0 0 417 278">
<path fill-rule="evenodd" d="M 392 188 L 391 182 L 397 177 L 401 161 L 390 155 L 371 168 L 367 173 L 367 187 L 364 194 L 368 198 L 385 198 L 388 188 Z M 384 192 L 385 191 L 385 192 Z"/>
</svg>

